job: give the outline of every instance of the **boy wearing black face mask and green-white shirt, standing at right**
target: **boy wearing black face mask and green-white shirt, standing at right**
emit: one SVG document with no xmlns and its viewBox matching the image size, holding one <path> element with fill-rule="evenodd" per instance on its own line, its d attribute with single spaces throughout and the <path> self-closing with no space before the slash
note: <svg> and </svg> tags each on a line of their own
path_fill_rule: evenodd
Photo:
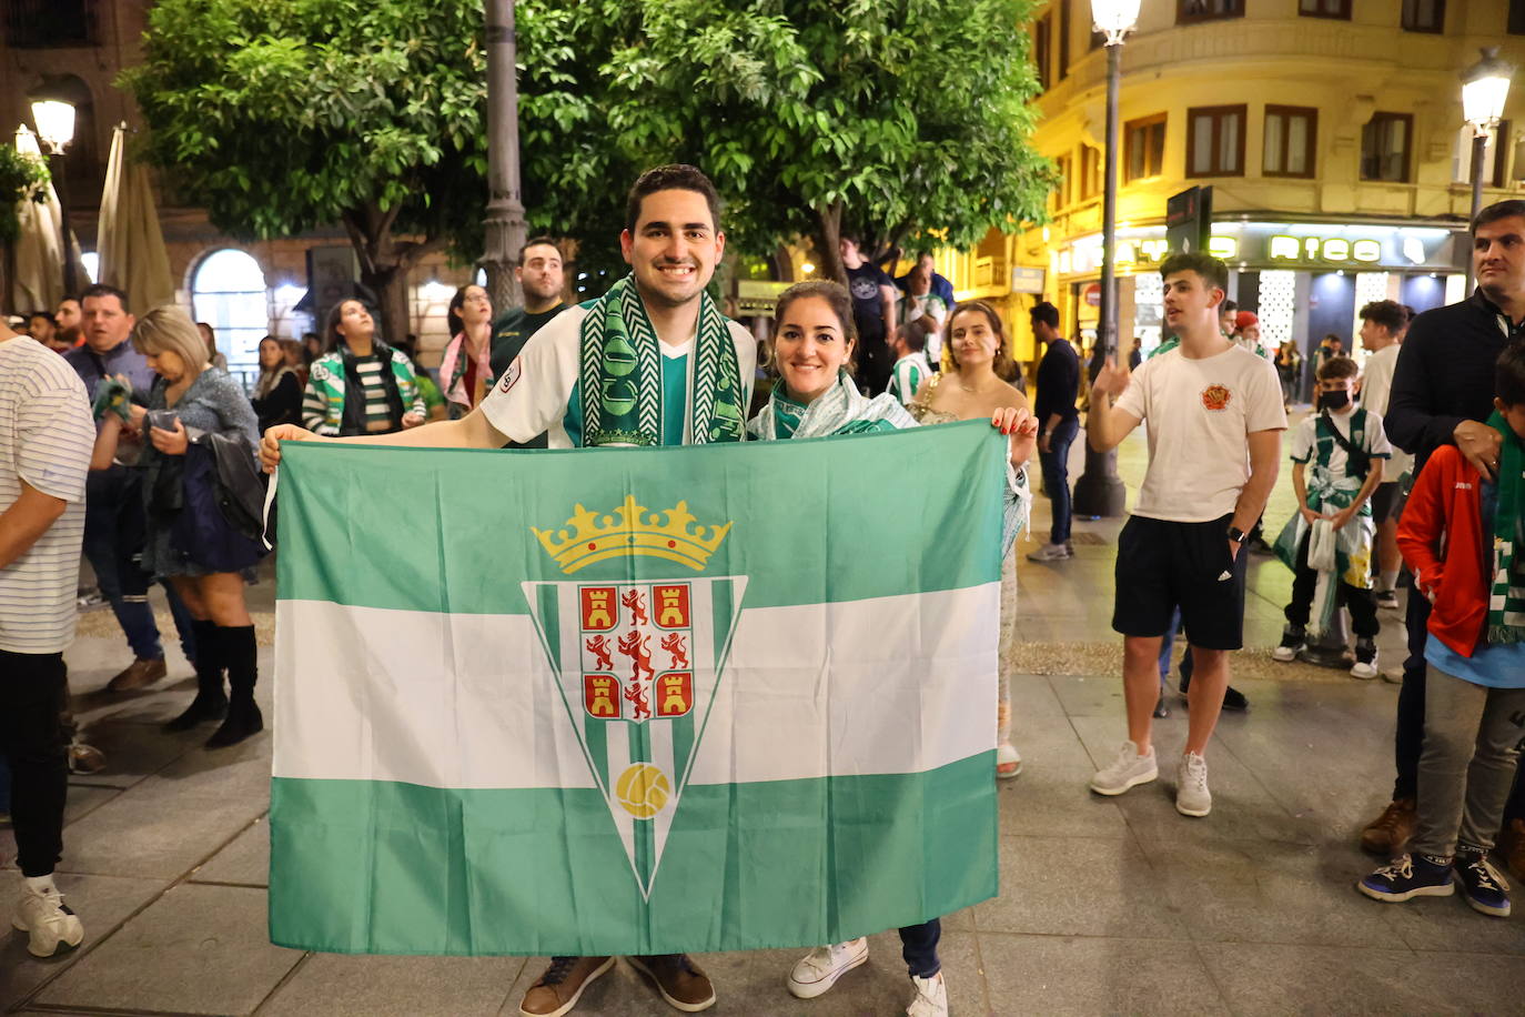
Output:
<svg viewBox="0 0 1525 1017">
<path fill-rule="evenodd" d="M 1382 483 L 1383 462 L 1392 454 L 1382 418 L 1356 409 L 1360 369 L 1350 357 L 1331 357 L 1318 371 L 1318 413 L 1292 432 L 1292 488 L 1298 514 L 1276 538 L 1276 555 L 1292 569 L 1287 628 L 1272 656 L 1295 660 L 1310 636 L 1324 633 L 1334 611 L 1350 608 L 1356 630 L 1357 679 L 1377 677 L 1377 604 L 1371 592 L 1371 552 L 1377 529 L 1371 492 Z M 1310 546 L 1333 543 L 1328 558 L 1308 564 Z M 1310 625 L 1310 616 L 1313 624 Z"/>
</svg>

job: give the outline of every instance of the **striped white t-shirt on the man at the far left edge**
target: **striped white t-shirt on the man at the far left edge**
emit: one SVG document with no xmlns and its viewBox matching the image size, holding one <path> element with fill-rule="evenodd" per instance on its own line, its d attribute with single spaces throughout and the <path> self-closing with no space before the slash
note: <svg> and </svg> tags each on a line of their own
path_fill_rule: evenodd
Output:
<svg viewBox="0 0 1525 1017">
<path fill-rule="evenodd" d="M 75 639 L 95 422 L 84 381 L 32 338 L 0 342 L 0 512 L 21 482 L 67 506 L 24 555 L 0 569 L 0 650 L 61 653 Z"/>
</svg>

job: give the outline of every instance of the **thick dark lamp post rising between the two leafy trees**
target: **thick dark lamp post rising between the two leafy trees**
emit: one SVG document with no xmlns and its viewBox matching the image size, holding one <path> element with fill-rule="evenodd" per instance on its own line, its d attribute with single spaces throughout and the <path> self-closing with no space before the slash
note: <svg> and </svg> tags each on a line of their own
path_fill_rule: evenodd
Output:
<svg viewBox="0 0 1525 1017">
<path fill-rule="evenodd" d="M 514 0 L 486 0 L 486 290 L 502 314 L 523 303 L 514 265 L 525 245 L 518 192 L 518 55 Z"/>
</svg>

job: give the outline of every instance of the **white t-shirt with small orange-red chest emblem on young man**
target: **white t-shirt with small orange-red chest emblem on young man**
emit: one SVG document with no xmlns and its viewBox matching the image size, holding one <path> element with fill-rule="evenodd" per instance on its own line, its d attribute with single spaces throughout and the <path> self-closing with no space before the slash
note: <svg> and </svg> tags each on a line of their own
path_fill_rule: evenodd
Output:
<svg viewBox="0 0 1525 1017">
<path fill-rule="evenodd" d="M 1133 514 L 1180 523 L 1231 514 L 1249 480 L 1246 436 L 1287 427 L 1276 369 L 1232 345 L 1200 360 L 1179 346 L 1145 360 L 1116 406 L 1148 427 Z"/>
</svg>

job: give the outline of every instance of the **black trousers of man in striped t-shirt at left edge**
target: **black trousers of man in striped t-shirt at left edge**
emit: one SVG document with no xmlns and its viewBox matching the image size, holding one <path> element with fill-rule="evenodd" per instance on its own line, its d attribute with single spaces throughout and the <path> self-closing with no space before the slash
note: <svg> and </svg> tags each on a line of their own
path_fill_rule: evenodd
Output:
<svg viewBox="0 0 1525 1017">
<path fill-rule="evenodd" d="M 11 767 L 11 823 L 21 875 L 49 875 L 64 851 L 64 654 L 0 650 L 0 752 Z"/>
</svg>

